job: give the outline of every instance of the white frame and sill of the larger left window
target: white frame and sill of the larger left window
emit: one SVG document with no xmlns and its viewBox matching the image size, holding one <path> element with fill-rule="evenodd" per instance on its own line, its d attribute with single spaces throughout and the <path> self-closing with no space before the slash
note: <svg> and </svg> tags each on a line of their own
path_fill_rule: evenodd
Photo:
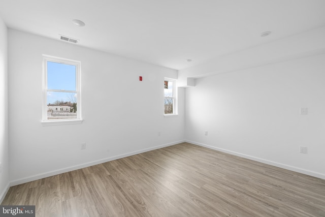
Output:
<svg viewBox="0 0 325 217">
<path fill-rule="evenodd" d="M 51 61 L 54 63 L 67 64 L 76 66 L 76 91 L 62 90 L 62 92 L 75 92 L 77 94 L 77 118 L 62 118 L 62 119 L 47 119 L 47 62 Z M 81 118 L 81 62 L 73 59 L 66 59 L 56 56 L 50 56 L 43 54 L 43 76 L 42 76 L 42 88 L 43 88 L 43 99 L 42 99 L 42 125 L 43 126 L 54 126 L 54 125 L 72 125 L 80 124 Z M 55 90 L 58 91 L 58 90 Z"/>
</svg>

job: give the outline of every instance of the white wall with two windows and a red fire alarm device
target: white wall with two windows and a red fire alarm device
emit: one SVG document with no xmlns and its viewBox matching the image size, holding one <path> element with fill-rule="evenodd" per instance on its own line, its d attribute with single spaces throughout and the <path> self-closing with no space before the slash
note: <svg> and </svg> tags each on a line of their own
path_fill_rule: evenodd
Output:
<svg viewBox="0 0 325 217">
<path fill-rule="evenodd" d="M 176 78 L 175 70 L 8 32 L 12 184 L 183 141 L 184 89 L 179 91 L 179 116 L 163 115 L 164 77 Z M 42 54 L 81 61 L 81 125 L 41 125 Z"/>
</svg>

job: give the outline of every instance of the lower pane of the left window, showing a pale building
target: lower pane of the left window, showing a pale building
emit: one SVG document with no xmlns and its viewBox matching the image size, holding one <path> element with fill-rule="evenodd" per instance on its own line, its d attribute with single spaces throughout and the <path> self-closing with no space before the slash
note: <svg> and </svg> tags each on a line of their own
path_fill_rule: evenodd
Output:
<svg viewBox="0 0 325 217">
<path fill-rule="evenodd" d="M 77 94 L 47 91 L 47 119 L 77 118 Z"/>
</svg>

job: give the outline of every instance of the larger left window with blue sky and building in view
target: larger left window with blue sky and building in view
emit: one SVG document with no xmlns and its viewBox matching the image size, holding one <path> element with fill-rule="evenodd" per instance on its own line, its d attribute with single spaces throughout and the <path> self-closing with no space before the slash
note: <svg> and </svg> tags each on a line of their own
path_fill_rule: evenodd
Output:
<svg viewBox="0 0 325 217">
<path fill-rule="evenodd" d="M 62 120 L 81 122 L 80 61 L 43 55 L 43 122 Z"/>
</svg>

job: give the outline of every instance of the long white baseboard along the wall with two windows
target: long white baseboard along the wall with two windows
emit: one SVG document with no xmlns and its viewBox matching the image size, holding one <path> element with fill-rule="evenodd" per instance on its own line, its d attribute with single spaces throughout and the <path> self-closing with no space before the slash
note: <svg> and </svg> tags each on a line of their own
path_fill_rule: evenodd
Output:
<svg viewBox="0 0 325 217">
<path fill-rule="evenodd" d="M 117 160 L 117 159 L 133 156 L 133 155 L 138 154 L 138 153 L 143 153 L 143 152 L 147 152 L 147 151 L 151 151 L 151 150 L 155 150 L 155 149 L 159 149 L 159 148 L 163 148 L 163 147 L 167 147 L 167 146 L 171 146 L 171 145 L 176 145 L 176 144 L 182 143 L 184 141 L 185 140 L 171 142 L 171 143 L 168 143 L 168 144 L 158 145 L 158 146 L 154 146 L 154 147 L 150 147 L 150 148 L 141 149 L 141 150 L 138 150 L 138 151 L 133 151 L 133 152 L 120 154 L 118 156 L 113 156 L 113 157 L 110 157 L 110 158 L 96 160 L 96 161 L 92 161 L 92 162 L 88 162 L 88 163 L 84 163 L 84 164 L 75 165 L 75 166 L 72 166 L 72 167 L 62 168 L 62 169 L 53 170 L 53 171 L 46 172 L 46 173 L 40 173 L 40 174 L 37 174 L 37 175 L 28 176 L 28 177 L 21 178 L 21 179 L 16 179 L 16 180 L 13 180 L 13 181 L 10 182 L 10 186 L 26 183 L 26 182 L 29 182 L 29 181 L 35 181 L 35 180 L 38 180 L 38 179 L 41 179 L 41 178 L 46 178 L 46 177 L 50 177 L 50 176 L 53 176 L 53 175 L 58 175 L 58 174 L 61 174 L 61 173 L 70 172 L 70 171 L 82 169 L 82 168 L 85 168 L 85 167 L 94 166 L 94 165 L 97 165 L 97 164 L 102 164 L 102 163 L 109 162 L 109 161 L 114 161 L 114 160 Z"/>
</svg>

